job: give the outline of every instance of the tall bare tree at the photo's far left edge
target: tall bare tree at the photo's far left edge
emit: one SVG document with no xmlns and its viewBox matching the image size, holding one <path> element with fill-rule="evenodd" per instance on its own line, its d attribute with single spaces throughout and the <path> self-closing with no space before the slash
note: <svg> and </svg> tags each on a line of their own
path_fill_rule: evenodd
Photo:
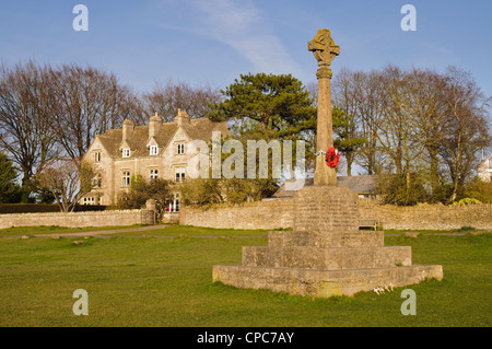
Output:
<svg viewBox="0 0 492 349">
<path fill-rule="evenodd" d="M 0 66 L 0 143 L 23 174 L 23 200 L 36 168 L 58 152 L 52 130 L 57 107 L 49 67 L 32 60 L 13 68 Z"/>
</svg>

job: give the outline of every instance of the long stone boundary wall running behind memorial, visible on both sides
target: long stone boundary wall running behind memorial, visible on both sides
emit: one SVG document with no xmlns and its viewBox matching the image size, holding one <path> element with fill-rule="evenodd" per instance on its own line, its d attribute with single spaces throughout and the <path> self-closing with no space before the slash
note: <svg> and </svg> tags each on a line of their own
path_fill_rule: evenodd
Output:
<svg viewBox="0 0 492 349">
<path fill-rule="evenodd" d="M 360 219 L 379 219 L 383 229 L 449 230 L 471 225 L 492 230 L 492 205 L 418 205 L 396 207 L 359 199 Z M 218 205 L 208 209 L 183 208 L 180 224 L 226 229 L 292 228 L 293 199 L 272 199 L 243 206 Z"/>
</svg>

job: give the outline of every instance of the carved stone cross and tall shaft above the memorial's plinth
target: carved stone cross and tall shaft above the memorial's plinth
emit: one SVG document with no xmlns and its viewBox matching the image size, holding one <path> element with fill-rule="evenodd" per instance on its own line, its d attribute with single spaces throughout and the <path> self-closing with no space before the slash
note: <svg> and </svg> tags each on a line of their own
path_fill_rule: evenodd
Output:
<svg viewBox="0 0 492 349">
<path fill-rule="evenodd" d="M 335 45 L 330 31 L 319 30 L 316 36 L 307 43 L 307 49 L 318 61 L 318 115 L 316 130 L 316 170 L 314 185 L 337 185 L 337 172 L 325 163 L 325 152 L 333 147 L 333 123 L 331 118 L 331 61 L 340 55 L 340 46 Z M 321 153 L 323 152 L 323 153 Z"/>
</svg>

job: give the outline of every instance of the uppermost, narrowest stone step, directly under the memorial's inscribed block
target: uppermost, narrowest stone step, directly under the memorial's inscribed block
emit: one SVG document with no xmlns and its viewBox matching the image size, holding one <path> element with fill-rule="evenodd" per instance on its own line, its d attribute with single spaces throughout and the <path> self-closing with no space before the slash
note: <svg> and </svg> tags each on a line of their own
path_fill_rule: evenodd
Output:
<svg viewBox="0 0 492 349">
<path fill-rule="evenodd" d="M 271 231 L 269 246 L 362 247 L 384 246 L 383 231 L 345 230 L 329 233 L 301 231 Z"/>
</svg>

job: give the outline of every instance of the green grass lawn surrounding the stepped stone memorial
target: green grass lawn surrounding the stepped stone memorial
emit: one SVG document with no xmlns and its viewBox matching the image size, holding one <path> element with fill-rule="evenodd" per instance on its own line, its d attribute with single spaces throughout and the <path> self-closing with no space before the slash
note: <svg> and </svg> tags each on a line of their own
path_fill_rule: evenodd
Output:
<svg viewBox="0 0 492 349">
<path fill-rule="evenodd" d="M 414 264 L 444 269 L 443 281 L 409 287 L 417 293 L 417 315 L 403 316 L 403 288 L 313 300 L 213 284 L 213 265 L 239 264 L 242 246 L 266 245 L 267 240 L 175 229 L 222 237 L 0 237 L 0 326 L 492 324 L 492 234 L 387 236 L 386 245 L 412 246 Z M 74 245 L 75 240 L 84 243 Z M 75 289 L 89 292 L 87 316 L 72 313 Z"/>
</svg>

